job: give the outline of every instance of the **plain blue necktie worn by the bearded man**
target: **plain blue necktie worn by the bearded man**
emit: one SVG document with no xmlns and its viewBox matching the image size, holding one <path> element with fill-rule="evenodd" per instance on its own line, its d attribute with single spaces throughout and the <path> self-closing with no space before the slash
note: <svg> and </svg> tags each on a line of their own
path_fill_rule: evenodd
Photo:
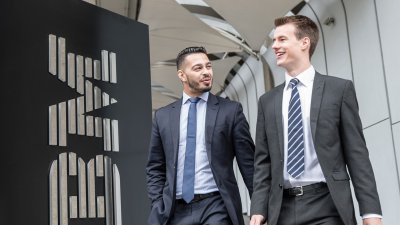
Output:
<svg viewBox="0 0 400 225">
<path fill-rule="evenodd" d="M 185 165 L 183 168 L 182 198 L 189 203 L 194 198 L 194 173 L 196 158 L 196 104 L 200 98 L 190 98 L 186 136 Z"/>
</svg>

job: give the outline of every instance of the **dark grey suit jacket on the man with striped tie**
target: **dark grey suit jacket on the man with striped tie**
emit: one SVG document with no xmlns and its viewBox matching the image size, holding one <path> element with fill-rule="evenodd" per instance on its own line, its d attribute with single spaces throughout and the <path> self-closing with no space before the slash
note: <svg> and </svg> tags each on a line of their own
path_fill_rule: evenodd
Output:
<svg viewBox="0 0 400 225">
<path fill-rule="evenodd" d="M 283 195 L 284 85 L 261 96 L 258 106 L 251 214 L 263 215 L 268 225 L 277 223 Z M 310 123 L 322 172 L 344 223 L 357 224 L 350 191 L 350 177 L 360 206 L 360 214 L 382 214 L 353 83 L 316 72 Z M 318 209 L 314 210 L 318 213 Z"/>
</svg>

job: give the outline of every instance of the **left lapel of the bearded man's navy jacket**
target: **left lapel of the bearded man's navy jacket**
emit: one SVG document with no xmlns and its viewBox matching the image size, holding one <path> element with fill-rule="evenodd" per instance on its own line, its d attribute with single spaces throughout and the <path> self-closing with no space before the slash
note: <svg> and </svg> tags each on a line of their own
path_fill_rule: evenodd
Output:
<svg viewBox="0 0 400 225">
<path fill-rule="evenodd" d="M 171 108 L 170 113 L 170 129 L 171 129 L 171 138 L 174 150 L 174 164 L 176 165 L 177 155 L 178 155 L 178 143 L 179 143 L 179 134 L 180 134 L 180 116 L 181 116 L 181 107 L 182 107 L 182 99 L 174 102 Z"/>
</svg>

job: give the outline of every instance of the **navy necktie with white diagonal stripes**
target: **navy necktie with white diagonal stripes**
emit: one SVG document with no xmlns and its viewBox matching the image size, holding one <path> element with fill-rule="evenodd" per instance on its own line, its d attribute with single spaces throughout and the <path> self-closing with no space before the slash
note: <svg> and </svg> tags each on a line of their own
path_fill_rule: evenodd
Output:
<svg viewBox="0 0 400 225">
<path fill-rule="evenodd" d="M 290 80 L 292 95 L 288 114 L 287 171 L 293 178 L 298 178 L 304 173 L 304 134 L 298 83 L 296 78 Z"/>
</svg>

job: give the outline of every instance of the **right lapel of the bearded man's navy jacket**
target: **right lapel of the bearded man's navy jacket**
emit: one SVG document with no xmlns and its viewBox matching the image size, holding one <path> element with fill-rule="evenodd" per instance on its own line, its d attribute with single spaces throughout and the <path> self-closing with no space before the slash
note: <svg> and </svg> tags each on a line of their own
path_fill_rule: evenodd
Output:
<svg viewBox="0 0 400 225">
<path fill-rule="evenodd" d="M 206 124 L 205 124 L 205 137 L 206 137 L 206 149 L 208 160 L 211 165 L 211 143 L 214 134 L 215 121 L 219 110 L 219 101 L 213 94 L 209 94 L 207 100 L 207 111 L 206 111 Z"/>
</svg>

